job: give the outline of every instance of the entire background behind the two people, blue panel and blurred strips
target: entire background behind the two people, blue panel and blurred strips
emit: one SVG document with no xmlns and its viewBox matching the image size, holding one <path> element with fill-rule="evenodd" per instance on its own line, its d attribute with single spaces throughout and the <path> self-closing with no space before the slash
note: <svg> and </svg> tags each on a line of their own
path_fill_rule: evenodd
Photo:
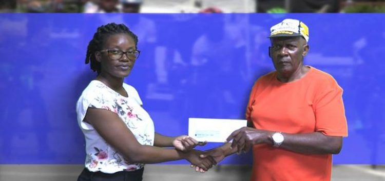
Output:
<svg viewBox="0 0 385 181">
<path fill-rule="evenodd" d="M 139 36 L 125 82 L 157 132 L 175 136 L 187 134 L 188 117 L 244 118 L 254 81 L 274 70 L 269 28 L 284 18 L 309 26 L 305 64 L 344 89 L 349 137 L 332 180 L 385 180 L 384 1 L 0 0 L 0 9 L 1 181 L 79 175 L 75 102 L 95 77 L 84 58 L 100 25 L 124 23 Z M 251 160 L 233 155 L 205 174 L 184 161 L 147 165 L 144 180 L 249 180 Z"/>
</svg>

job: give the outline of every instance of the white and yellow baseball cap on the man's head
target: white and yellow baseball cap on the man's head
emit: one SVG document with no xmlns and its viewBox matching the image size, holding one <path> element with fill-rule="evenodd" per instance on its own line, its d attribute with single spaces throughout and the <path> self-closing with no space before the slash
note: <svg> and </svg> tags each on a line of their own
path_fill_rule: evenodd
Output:
<svg viewBox="0 0 385 181">
<path fill-rule="evenodd" d="M 269 38 L 279 36 L 302 36 L 309 42 L 309 28 L 298 19 L 283 19 L 270 28 Z"/>
</svg>

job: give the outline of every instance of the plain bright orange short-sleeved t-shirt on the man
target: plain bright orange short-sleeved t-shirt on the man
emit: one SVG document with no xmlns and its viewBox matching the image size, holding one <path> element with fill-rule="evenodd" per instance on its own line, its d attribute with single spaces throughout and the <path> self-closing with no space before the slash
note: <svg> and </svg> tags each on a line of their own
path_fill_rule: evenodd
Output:
<svg viewBox="0 0 385 181">
<path fill-rule="evenodd" d="M 321 132 L 347 136 L 342 89 L 328 73 L 310 67 L 302 78 L 282 83 L 277 72 L 258 79 L 251 92 L 246 119 L 254 127 L 283 133 Z M 326 181 L 332 172 L 331 154 L 306 155 L 271 145 L 253 148 L 252 181 Z"/>
</svg>

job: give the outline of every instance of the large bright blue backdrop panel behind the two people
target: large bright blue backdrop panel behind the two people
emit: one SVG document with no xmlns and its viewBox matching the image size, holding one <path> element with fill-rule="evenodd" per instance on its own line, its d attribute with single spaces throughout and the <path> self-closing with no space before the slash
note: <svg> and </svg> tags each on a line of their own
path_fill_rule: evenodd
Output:
<svg viewBox="0 0 385 181">
<path fill-rule="evenodd" d="M 98 26 L 125 23 L 139 36 L 126 82 L 156 131 L 175 136 L 188 117 L 244 118 L 254 81 L 274 69 L 266 37 L 283 18 L 309 26 L 305 64 L 344 89 L 349 137 L 334 163 L 385 164 L 383 14 L 0 14 L 0 164 L 84 162 L 75 103 L 95 77 L 84 61 Z"/>
</svg>

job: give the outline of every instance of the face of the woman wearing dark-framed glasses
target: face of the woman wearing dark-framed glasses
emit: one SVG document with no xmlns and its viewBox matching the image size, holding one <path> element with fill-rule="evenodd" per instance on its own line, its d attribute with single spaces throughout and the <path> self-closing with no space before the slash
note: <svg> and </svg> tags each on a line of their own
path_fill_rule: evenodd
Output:
<svg viewBox="0 0 385 181">
<path fill-rule="evenodd" d="M 106 38 L 102 50 L 95 53 L 97 61 L 101 64 L 101 75 L 108 74 L 112 77 L 124 78 L 130 74 L 135 58 L 129 58 L 126 53 L 123 53 L 122 57 L 118 56 L 117 59 L 116 52 L 119 51 L 136 51 L 136 44 L 131 36 L 119 33 Z"/>
</svg>

